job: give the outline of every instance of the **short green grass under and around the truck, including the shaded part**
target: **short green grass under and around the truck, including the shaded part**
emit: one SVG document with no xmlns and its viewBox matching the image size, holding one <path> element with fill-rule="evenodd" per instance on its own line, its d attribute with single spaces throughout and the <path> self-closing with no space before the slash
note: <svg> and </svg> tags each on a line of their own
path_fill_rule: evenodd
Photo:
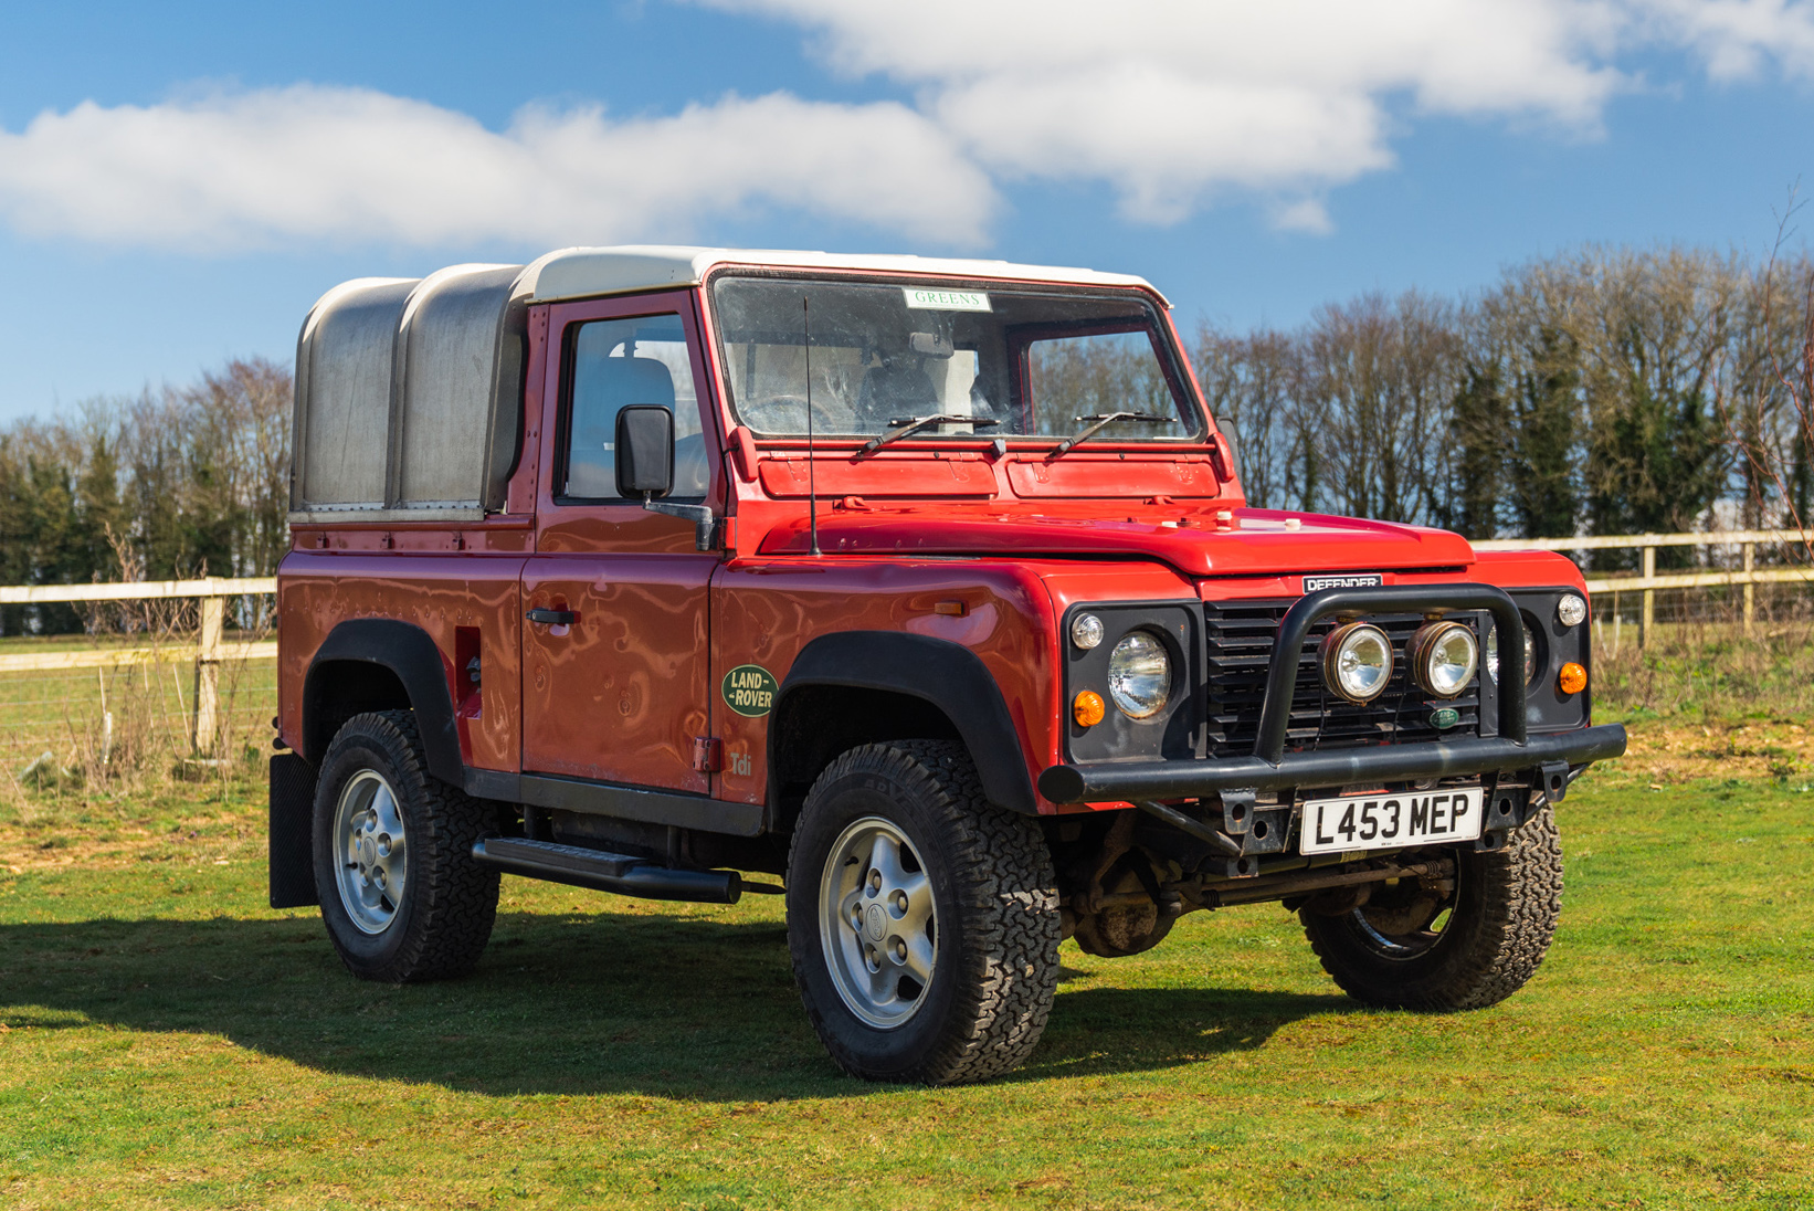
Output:
<svg viewBox="0 0 1814 1211">
<path fill-rule="evenodd" d="M 1067 944 L 1032 1062 L 958 1089 L 834 1071 L 771 897 L 506 881 L 475 977 L 386 988 L 263 908 L 256 788 L 40 812 L 5 1207 L 1814 1207 L 1814 797 L 1769 783 L 1584 779 L 1498 1008 L 1368 1011 L 1277 906 L 1199 913 Z"/>
</svg>

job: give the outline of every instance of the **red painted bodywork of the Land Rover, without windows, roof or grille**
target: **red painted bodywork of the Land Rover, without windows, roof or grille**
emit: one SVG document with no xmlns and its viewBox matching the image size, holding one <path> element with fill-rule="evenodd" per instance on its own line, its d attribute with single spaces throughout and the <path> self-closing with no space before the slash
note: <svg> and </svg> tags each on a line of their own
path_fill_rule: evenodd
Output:
<svg viewBox="0 0 1814 1211">
<path fill-rule="evenodd" d="M 655 312 L 682 316 L 707 448 L 727 454 L 707 496 L 727 517 L 722 556 L 695 552 L 688 521 L 551 496 L 564 327 Z M 524 448 L 502 516 L 294 527 L 278 577 L 283 737 L 301 744 L 301 679 L 327 632 L 348 617 L 399 617 L 441 645 L 455 701 L 455 630 L 477 628 L 484 688 L 461 710 L 472 764 L 760 802 L 767 717 L 727 710 L 724 674 L 760 665 L 780 681 L 814 635 L 903 630 L 981 657 L 1038 777 L 1061 759 L 1056 619 L 1074 603 L 1297 596 L 1302 574 L 1342 570 L 1384 572 L 1388 583 L 1582 585 L 1555 554 L 1477 556 L 1440 530 L 1244 508 L 1241 485 L 1219 474 L 1226 445 L 1214 430 L 1163 450 L 1096 439 L 1056 461 L 1048 445 L 1001 456 L 987 436 L 909 438 L 865 459 L 853 458 L 854 439 L 811 454 L 804 441 L 762 441 L 735 425 L 709 349 L 702 290 L 532 309 Z M 1201 401 L 1194 379 L 1190 390 Z M 961 614 L 949 612 L 954 601 Z M 579 617 L 532 626 L 530 606 Z M 695 770 L 700 737 L 722 741 L 717 772 Z"/>
</svg>

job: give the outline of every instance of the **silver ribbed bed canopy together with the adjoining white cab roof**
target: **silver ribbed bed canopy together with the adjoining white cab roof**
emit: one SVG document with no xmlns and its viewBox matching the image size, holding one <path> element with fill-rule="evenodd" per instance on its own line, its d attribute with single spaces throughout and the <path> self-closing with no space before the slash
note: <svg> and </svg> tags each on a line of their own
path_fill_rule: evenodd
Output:
<svg viewBox="0 0 1814 1211">
<path fill-rule="evenodd" d="M 720 265 L 1152 287 L 1090 269 L 920 256 L 624 245 L 530 265 L 357 278 L 296 343 L 290 521 L 477 521 L 521 445 L 530 303 L 698 285 Z"/>
</svg>

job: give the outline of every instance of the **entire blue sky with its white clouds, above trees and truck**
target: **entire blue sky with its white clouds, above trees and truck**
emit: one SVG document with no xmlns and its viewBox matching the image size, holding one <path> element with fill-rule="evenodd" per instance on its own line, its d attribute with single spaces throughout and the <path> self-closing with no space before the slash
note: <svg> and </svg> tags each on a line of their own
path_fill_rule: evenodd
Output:
<svg viewBox="0 0 1814 1211">
<path fill-rule="evenodd" d="M 288 359 L 345 278 L 562 243 L 1090 265 L 1292 325 L 1582 241 L 1763 252 L 1814 185 L 1799 4 L 978 7 L 15 0 L 0 421 Z"/>
</svg>

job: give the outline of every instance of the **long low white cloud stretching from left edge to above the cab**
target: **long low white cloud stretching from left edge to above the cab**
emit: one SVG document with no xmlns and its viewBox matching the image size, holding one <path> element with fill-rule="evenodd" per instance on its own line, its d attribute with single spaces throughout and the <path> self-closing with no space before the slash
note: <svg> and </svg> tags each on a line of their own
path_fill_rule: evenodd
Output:
<svg viewBox="0 0 1814 1211">
<path fill-rule="evenodd" d="M 0 214 L 111 243 L 673 240 L 760 205 L 974 245 L 996 192 L 905 105 L 787 94 L 622 122 L 532 107 L 495 133 L 423 102 L 301 85 L 89 102 L 0 131 Z"/>
</svg>

